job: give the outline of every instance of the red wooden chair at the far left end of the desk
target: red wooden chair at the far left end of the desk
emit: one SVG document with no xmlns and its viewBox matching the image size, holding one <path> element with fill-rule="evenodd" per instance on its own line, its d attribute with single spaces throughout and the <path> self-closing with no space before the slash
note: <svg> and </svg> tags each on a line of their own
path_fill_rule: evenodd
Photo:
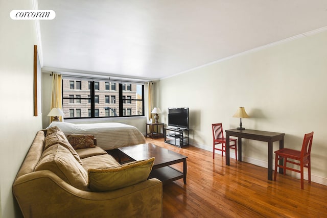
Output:
<svg viewBox="0 0 327 218">
<path fill-rule="evenodd" d="M 226 138 L 224 138 L 223 126 L 222 124 L 212 124 L 213 127 L 213 159 L 215 159 L 215 150 L 221 151 L 221 156 L 223 156 L 224 152 L 226 152 Z M 234 144 L 230 144 L 233 141 Z M 236 146 L 237 139 L 230 138 L 229 139 L 229 148 L 235 149 L 235 159 L 237 160 L 237 146 Z M 221 144 L 221 149 L 216 148 L 217 144 Z"/>
</svg>

